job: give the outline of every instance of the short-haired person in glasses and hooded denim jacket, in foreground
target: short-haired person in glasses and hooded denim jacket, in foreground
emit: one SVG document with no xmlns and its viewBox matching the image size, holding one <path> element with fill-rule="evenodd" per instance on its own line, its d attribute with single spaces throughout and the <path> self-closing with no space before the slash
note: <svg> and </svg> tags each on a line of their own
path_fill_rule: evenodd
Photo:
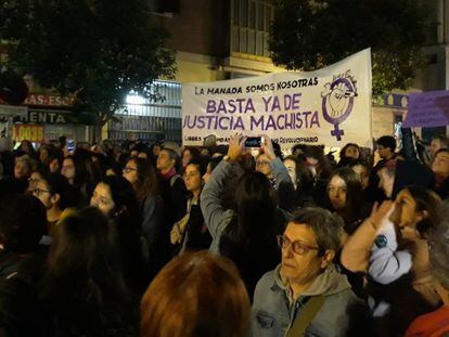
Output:
<svg viewBox="0 0 449 337">
<path fill-rule="evenodd" d="M 281 264 L 257 284 L 253 336 L 348 335 L 351 313 L 365 307 L 332 262 L 342 233 L 342 220 L 328 210 L 295 215 L 279 237 Z"/>
</svg>

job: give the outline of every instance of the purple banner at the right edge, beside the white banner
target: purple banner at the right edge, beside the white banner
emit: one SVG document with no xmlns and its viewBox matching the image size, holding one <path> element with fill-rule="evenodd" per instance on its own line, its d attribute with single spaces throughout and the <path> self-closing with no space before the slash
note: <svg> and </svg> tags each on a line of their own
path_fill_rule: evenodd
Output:
<svg viewBox="0 0 449 337">
<path fill-rule="evenodd" d="M 410 93 L 403 127 L 444 127 L 449 125 L 449 91 Z"/>
</svg>

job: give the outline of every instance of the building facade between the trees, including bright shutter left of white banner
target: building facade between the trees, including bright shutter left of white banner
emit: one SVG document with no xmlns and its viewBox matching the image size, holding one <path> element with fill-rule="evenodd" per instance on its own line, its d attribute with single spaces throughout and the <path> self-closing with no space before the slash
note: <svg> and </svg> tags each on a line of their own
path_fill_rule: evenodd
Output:
<svg viewBox="0 0 449 337">
<path fill-rule="evenodd" d="M 163 103 L 134 102 L 107 126 L 110 139 L 181 141 L 181 87 L 284 70 L 268 51 L 273 1 L 150 1 L 152 21 L 170 34 L 177 51 L 174 81 L 159 81 Z M 165 87 L 164 87 L 165 86 Z"/>
</svg>

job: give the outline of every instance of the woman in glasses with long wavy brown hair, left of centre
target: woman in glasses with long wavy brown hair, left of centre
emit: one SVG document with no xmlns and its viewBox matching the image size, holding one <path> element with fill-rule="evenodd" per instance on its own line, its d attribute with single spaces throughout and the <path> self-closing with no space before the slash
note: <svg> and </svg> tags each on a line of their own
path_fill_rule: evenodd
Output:
<svg viewBox="0 0 449 337">
<path fill-rule="evenodd" d="M 123 177 L 132 184 L 138 198 L 142 215 L 142 234 L 147 245 L 144 252 L 152 264 L 157 264 L 164 202 L 159 195 L 156 171 L 150 159 L 136 157 L 128 160 Z"/>
</svg>

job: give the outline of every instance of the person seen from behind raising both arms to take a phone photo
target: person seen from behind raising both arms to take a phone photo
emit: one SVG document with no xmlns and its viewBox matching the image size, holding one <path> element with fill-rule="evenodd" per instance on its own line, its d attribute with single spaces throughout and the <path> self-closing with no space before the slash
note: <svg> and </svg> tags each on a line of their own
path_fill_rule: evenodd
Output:
<svg viewBox="0 0 449 337">
<path fill-rule="evenodd" d="M 201 194 L 201 208 L 213 237 L 209 250 L 235 262 L 252 297 L 257 281 L 280 262 L 277 235 L 283 229 L 277 219 L 277 204 L 267 177 L 260 172 L 243 173 L 239 165 L 245 140 L 242 134 L 232 137 L 228 155 L 216 167 Z M 274 155 L 271 140 L 266 138 L 261 148 L 270 160 L 277 184 L 291 183 L 284 165 Z M 240 176 L 235 186 L 236 206 L 224 209 L 224 184 L 233 172 Z"/>
</svg>

